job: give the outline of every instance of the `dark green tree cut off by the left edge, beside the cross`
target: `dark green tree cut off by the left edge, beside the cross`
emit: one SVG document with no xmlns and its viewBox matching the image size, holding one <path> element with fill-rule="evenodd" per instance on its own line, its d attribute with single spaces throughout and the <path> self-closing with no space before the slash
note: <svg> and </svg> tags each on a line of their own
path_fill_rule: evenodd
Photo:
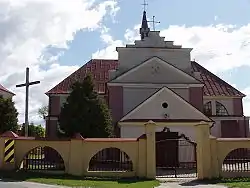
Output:
<svg viewBox="0 0 250 188">
<path fill-rule="evenodd" d="M 0 134 L 6 131 L 17 132 L 18 112 L 12 98 L 3 98 L 0 95 Z"/>
</svg>

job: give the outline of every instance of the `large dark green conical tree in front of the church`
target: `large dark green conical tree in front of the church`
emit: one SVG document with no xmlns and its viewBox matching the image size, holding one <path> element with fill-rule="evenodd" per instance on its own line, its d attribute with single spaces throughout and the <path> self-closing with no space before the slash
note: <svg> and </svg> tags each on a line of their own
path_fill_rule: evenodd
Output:
<svg viewBox="0 0 250 188">
<path fill-rule="evenodd" d="M 80 133 L 85 138 L 105 138 L 113 135 L 112 120 L 106 103 L 94 91 L 92 77 L 72 85 L 72 92 L 59 116 L 59 129 L 65 136 Z"/>
</svg>

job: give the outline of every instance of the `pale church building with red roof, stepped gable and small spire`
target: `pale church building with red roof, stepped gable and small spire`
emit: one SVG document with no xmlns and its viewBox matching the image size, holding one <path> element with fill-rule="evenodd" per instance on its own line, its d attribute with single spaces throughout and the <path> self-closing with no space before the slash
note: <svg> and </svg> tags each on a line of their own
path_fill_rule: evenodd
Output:
<svg viewBox="0 0 250 188">
<path fill-rule="evenodd" d="M 118 59 L 92 59 L 46 93 L 48 137 L 56 137 L 70 86 L 87 73 L 93 75 L 96 90 L 107 101 L 118 137 L 141 136 L 145 133 L 141 125 L 149 120 L 165 123 L 170 131 L 192 141 L 194 130 L 184 125 L 200 121 L 211 125 L 215 137 L 249 136 L 243 93 L 191 61 L 192 48 L 165 41 L 159 31 L 151 31 L 145 11 L 139 32 L 140 40 L 117 47 Z"/>
</svg>

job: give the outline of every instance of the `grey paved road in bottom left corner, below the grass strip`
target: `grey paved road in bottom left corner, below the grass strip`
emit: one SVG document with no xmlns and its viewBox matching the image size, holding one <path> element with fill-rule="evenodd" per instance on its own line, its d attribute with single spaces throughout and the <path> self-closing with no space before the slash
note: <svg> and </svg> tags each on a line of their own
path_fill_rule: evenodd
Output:
<svg viewBox="0 0 250 188">
<path fill-rule="evenodd" d="M 63 186 L 44 185 L 31 182 L 11 182 L 0 180 L 0 188 L 66 188 Z"/>
</svg>

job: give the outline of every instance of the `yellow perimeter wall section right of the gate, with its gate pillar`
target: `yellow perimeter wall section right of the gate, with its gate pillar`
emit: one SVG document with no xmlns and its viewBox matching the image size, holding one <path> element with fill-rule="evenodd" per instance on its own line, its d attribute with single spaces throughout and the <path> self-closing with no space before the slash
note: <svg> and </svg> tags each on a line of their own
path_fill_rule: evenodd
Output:
<svg viewBox="0 0 250 188">
<path fill-rule="evenodd" d="M 215 138 L 206 123 L 196 126 L 198 178 L 250 177 L 248 172 L 223 172 L 225 157 L 233 150 L 250 149 L 249 138 Z M 249 157 L 249 156 L 248 156 Z M 250 169 L 249 169 L 250 170 Z"/>
</svg>

